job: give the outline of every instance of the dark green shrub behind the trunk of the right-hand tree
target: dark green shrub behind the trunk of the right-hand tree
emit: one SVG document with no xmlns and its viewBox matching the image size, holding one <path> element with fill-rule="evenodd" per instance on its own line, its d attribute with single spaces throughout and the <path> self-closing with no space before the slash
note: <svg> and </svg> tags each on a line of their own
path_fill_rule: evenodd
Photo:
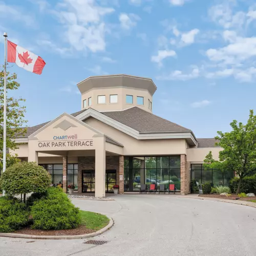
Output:
<svg viewBox="0 0 256 256">
<path fill-rule="evenodd" d="M 232 193 L 237 192 L 239 180 L 240 179 L 237 177 L 230 180 L 229 187 Z M 256 194 L 256 175 L 243 178 L 240 191 L 241 193 L 247 192 Z"/>
</svg>

